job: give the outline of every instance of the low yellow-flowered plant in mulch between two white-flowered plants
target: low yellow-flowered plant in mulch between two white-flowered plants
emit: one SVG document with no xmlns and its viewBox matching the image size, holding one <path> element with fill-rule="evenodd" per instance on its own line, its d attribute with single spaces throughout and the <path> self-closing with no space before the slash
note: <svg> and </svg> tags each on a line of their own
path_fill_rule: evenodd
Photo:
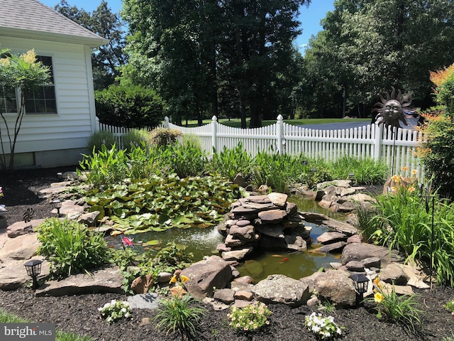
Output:
<svg viewBox="0 0 454 341">
<path fill-rule="evenodd" d="M 231 321 L 228 325 L 234 330 L 253 332 L 264 325 L 269 325 L 268 316 L 271 314 L 271 310 L 262 302 L 244 308 L 231 307 L 231 313 L 227 315 Z"/>
</svg>

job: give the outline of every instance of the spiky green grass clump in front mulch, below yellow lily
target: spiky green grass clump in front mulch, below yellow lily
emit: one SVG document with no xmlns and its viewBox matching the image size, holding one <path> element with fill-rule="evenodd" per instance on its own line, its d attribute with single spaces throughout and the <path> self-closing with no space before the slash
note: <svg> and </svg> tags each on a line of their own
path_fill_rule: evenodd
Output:
<svg viewBox="0 0 454 341">
<path fill-rule="evenodd" d="M 196 324 L 206 313 L 206 308 L 200 305 L 189 294 L 179 298 L 177 296 L 160 301 L 162 307 L 157 309 L 156 328 L 170 332 L 177 332 L 189 340 L 196 335 Z"/>
</svg>

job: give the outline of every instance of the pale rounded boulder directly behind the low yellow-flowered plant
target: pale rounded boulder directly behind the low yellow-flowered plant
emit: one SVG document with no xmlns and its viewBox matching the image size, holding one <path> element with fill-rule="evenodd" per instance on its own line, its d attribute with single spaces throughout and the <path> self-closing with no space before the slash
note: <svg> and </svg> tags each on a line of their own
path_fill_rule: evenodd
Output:
<svg viewBox="0 0 454 341">
<path fill-rule="evenodd" d="M 307 302 L 309 286 L 284 275 L 270 275 L 251 288 L 256 300 L 265 304 L 283 303 L 298 307 Z"/>
</svg>

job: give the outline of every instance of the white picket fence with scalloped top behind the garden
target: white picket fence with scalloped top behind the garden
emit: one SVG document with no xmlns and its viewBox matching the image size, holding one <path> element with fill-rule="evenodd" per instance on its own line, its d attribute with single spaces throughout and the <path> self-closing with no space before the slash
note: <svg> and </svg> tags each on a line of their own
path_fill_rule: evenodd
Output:
<svg viewBox="0 0 454 341">
<path fill-rule="evenodd" d="M 109 130 L 108 127 L 103 125 L 101 128 L 100 125 L 100 130 Z M 402 167 L 405 166 L 409 171 L 403 172 L 403 175 L 409 175 L 411 170 L 423 175 L 423 166 L 415 153 L 423 135 L 411 129 L 384 129 L 381 124 L 339 130 L 306 129 L 284 123 L 281 115 L 277 117 L 275 124 L 254 129 L 224 126 L 218 123 L 216 117 L 212 118 L 210 124 L 192 128 L 172 124 L 165 117 L 162 127 L 197 136 L 202 148 L 210 155 L 223 148 L 235 148 L 241 143 L 251 156 L 255 156 L 258 151 L 268 151 L 289 155 L 302 153 L 307 158 L 323 158 L 328 161 L 342 156 L 373 158 L 384 160 L 389 169 L 394 166 L 392 173 L 402 173 Z M 126 131 L 113 132 L 121 136 Z"/>
</svg>

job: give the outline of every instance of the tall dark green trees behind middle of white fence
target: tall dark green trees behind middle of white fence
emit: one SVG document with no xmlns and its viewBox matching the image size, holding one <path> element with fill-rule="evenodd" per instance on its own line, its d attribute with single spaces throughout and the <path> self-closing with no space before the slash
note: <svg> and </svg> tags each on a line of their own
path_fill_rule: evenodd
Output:
<svg viewBox="0 0 454 341">
<path fill-rule="evenodd" d="M 260 126 L 270 104 L 279 107 L 276 89 L 292 70 L 296 16 L 305 3 L 126 0 L 131 65 L 124 75 L 157 85 L 176 121 L 209 107 L 218 112 L 219 98 L 224 111 L 240 113 L 243 127 L 246 116 Z"/>
</svg>

